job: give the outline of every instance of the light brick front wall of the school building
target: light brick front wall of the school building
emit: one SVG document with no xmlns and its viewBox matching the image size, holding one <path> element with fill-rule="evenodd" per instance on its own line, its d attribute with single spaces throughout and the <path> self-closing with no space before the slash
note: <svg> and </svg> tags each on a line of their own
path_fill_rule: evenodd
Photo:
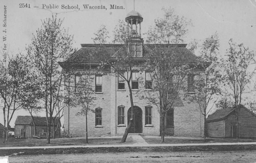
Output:
<svg viewBox="0 0 256 163">
<path fill-rule="evenodd" d="M 144 75 L 143 73 L 141 74 Z M 94 77 L 94 76 L 92 76 Z M 122 135 L 127 127 L 127 111 L 130 108 L 130 96 L 126 83 L 126 89 L 117 90 L 117 78 L 112 74 L 102 77 L 102 94 L 96 94 L 95 108 L 102 108 L 102 128 L 95 127 L 95 114 L 88 114 L 88 136 L 97 137 L 111 132 L 111 135 Z M 145 135 L 159 135 L 160 133 L 160 116 L 157 107 L 152 106 L 152 125 L 145 126 L 145 106 L 148 102 L 140 97 L 144 95 L 140 91 L 132 91 L 134 105 L 142 109 L 142 132 Z M 152 92 L 154 93 L 154 92 Z M 175 136 L 203 136 L 204 118 L 200 112 L 198 104 L 193 99 L 193 95 L 180 97 L 174 107 L 174 127 L 168 130 Z M 118 106 L 124 106 L 125 125 L 118 126 Z M 85 117 L 76 116 L 80 111 L 78 107 L 70 107 L 70 135 L 85 136 Z M 68 108 L 64 109 L 64 127 L 68 133 Z M 169 134 L 169 135 L 170 135 Z"/>
</svg>

